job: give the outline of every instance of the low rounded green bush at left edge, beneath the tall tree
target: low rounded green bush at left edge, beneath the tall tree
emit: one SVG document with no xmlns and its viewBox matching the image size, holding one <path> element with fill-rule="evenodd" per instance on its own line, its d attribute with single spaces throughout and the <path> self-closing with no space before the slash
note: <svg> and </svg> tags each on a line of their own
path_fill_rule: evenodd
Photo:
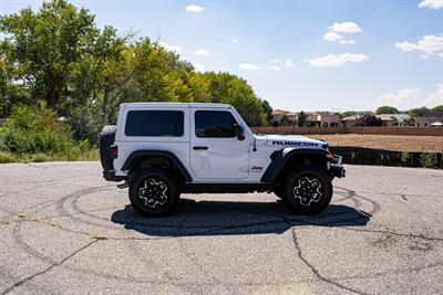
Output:
<svg viewBox="0 0 443 295">
<path fill-rule="evenodd" d="M 71 134 L 44 105 L 19 106 L 0 130 L 0 148 L 13 154 L 64 155 L 75 149 Z"/>
</svg>

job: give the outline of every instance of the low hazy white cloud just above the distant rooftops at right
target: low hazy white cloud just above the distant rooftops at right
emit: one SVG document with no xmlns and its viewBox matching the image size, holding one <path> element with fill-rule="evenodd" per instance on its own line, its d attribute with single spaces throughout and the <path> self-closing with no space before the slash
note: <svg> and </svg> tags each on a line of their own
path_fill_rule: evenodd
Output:
<svg viewBox="0 0 443 295">
<path fill-rule="evenodd" d="M 377 106 L 389 105 L 400 109 L 421 106 L 419 88 L 402 88 L 396 93 L 384 93 L 377 98 Z"/>
</svg>

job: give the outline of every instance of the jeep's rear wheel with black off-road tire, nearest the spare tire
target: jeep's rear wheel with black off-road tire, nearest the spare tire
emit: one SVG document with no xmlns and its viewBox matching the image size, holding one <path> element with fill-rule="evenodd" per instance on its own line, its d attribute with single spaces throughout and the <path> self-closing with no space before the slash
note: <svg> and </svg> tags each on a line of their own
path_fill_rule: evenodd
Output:
<svg viewBox="0 0 443 295">
<path fill-rule="evenodd" d="M 146 217 L 165 214 L 177 203 L 179 194 L 177 178 L 166 169 L 144 169 L 130 185 L 132 206 Z"/>
</svg>

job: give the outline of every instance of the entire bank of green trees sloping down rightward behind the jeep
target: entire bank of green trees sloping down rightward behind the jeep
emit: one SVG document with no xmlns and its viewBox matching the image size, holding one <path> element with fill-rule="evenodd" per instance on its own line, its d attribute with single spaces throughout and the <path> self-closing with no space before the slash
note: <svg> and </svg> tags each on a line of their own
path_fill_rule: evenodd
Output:
<svg viewBox="0 0 443 295">
<path fill-rule="evenodd" d="M 45 102 L 68 117 L 78 140 L 93 140 L 128 102 L 234 105 L 251 126 L 269 124 L 272 108 L 228 73 L 197 73 L 157 42 L 99 29 L 94 15 L 66 0 L 0 17 L 0 116 Z"/>
</svg>

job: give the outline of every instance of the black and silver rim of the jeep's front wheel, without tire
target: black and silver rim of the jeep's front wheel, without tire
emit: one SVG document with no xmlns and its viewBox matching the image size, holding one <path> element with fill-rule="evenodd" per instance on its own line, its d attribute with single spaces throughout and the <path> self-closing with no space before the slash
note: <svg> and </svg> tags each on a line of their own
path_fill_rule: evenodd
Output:
<svg viewBox="0 0 443 295">
<path fill-rule="evenodd" d="M 313 176 L 303 176 L 296 180 L 293 187 L 293 197 L 302 206 L 318 203 L 323 196 L 323 189 L 318 178 Z"/>
</svg>

